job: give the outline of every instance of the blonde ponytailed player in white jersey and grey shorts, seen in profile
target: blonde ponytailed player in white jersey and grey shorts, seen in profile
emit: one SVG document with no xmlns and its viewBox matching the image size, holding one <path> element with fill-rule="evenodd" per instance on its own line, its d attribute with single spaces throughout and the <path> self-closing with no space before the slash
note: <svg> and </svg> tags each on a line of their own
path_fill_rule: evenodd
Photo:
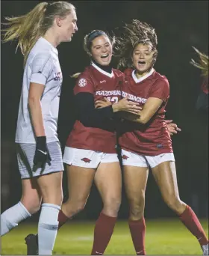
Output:
<svg viewBox="0 0 209 256">
<path fill-rule="evenodd" d="M 24 75 L 16 126 L 16 153 L 22 198 L 1 214 L 1 236 L 40 209 L 39 255 L 52 255 L 57 216 L 63 201 L 62 153 L 57 116 L 62 71 L 57 46 L 78 30 L 75 7 L 66 1 L 42 2 L 19 17 L 7 18 L 4 42 L 17 39 Z"/>
</svg>

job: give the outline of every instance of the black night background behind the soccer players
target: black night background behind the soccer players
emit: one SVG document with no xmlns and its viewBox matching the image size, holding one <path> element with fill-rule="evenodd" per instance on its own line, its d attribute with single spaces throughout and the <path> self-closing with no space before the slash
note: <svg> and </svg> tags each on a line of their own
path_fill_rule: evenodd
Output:
<svg viewBox="0 0 209 256">
<path fill-rule="evenodd" d="M 19 16 L 40 1 L 1 1 L 4 16 Z M 202 84 L 200 70 L 190 64 L 197 58 L 192 46 L 208 54 L 208 1 L 71 1 L 77 9 L 78 32 L 71 43 L 57 47 L 63 70 L 58 135 L 64 146 L 74 122 L 69 75 L 81 72 L 90 63 L 83 49 L 84 35 L 93 29 L 113 31 L 122 22 L 140 19 L 155 27 L 158 57 L 155 70 L 169 79 L 171 96 L 166 118 L 181 127 L 173 136 L 178 186 L 181 200 L 193 207 L 199 217 L 208 216 L 208 118 L 196 112 L 196 99 Z M 16 42 L 1 43 L 1 212 L 16 204 L 21 196 L 21 180 L 16 162 L 15 131 L 22 88 L 23 57 Z M 116 62 L 116 61 L 115 61 Z M 115 64 L 113 61 L 113 64 Z M 63 180 L 66 194 L 66 179 Z M 128 218 L 123 190 L 119 217 Z M 87 207 L 77 219 L 96 219 L 102 209 L 93 186 Z M 37 220 L 37 216 L 32 220 Z M 146 217 L 175 216 L 163 203 L 150 172 L 146 191 Z"/>
</svg>

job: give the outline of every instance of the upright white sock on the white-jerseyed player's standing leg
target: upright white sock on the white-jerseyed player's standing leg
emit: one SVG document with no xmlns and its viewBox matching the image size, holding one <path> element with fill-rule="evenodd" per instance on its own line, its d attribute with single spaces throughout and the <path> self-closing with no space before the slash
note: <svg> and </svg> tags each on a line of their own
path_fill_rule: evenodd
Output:
<svg viewBox="0 0 209 256">
<path fill-rule="evenodd" d="M 39 255 L 52 255 L 57 237 L 58 214 L 61 207 L 56 204 L 42 204 L 38 224 Z"/>
</svg>

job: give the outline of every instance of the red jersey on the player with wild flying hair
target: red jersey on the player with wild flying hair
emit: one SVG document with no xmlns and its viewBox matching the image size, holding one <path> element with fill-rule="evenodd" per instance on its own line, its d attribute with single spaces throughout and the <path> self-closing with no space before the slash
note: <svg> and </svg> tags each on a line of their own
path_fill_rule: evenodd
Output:
<svg viewBox="0 0 209 256">
<path fill-rule="evenodd" d="M 164 122 L 165 107 L 169 99 L 169 82 L 152 69 L 146 76 L 137 79 L 134 70 L 125 70 L 125 83 L 122 85 L 122 97 L 140 103 L 143 106 L 149 97 L 163 100 L 160 109 L 147 124 L 124 121 L 124 132 L 119 136 L 119 144 L 125 150 L 145 156 L 157 156 L 172 152 L 172 141 Z"/>
</svg>

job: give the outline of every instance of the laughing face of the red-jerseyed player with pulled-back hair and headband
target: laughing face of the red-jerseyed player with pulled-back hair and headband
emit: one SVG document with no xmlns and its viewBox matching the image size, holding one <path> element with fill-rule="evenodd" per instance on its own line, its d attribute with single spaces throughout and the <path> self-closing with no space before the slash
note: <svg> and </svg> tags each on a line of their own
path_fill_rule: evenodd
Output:
<svg viewBox="0 0 209 256">
<path fill-rule="evenodd" d="M 110 43 L 110 39 L 105 35 L 96 37 L 92 41 L 91 54 L 92 58 L 98 64 L 102 66 L 109 65 L 113 55 L 113 47 Z"/>
</svg>

